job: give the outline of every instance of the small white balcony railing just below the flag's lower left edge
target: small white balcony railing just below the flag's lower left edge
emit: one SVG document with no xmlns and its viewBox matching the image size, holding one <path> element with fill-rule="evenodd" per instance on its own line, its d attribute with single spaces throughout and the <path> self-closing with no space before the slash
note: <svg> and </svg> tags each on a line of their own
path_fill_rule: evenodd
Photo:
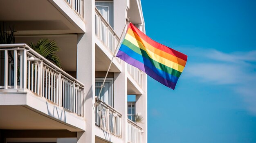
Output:
<svg viewBox="0 0 256 143">
<path fill-rule="evenodd" d="M 142 77 L 143 72 L 139 70 L 137 67 L 127 64 L 127 71 L 132 76 L 132 78 L 137 82 L 137 84 L 142 87 Z"/>
</svg>

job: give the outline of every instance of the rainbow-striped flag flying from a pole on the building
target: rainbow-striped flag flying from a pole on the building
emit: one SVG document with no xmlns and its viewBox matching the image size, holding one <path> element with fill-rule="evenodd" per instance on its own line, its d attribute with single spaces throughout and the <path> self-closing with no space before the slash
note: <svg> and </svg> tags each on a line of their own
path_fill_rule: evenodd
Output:
<svg viewBox="0 0 256 143">
<path fill-rule="evenodd" d="M 131 23 L 117 57 L 171 89 L 175 89 L 187 61 L 185 54 L 150 39 Z"/>
</svg>

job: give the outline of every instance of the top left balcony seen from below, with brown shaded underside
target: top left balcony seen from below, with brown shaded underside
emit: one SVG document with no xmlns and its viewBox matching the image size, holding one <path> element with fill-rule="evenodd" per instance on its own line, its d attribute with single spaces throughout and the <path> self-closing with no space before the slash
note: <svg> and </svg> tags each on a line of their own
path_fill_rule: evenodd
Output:
<svg viewBox="0 0 256 143">
<path fill-rule="evenodd" d="M 0 21 L 16 35 L 84 33 L 84 0 L 3 0 Z M 15 9 L 13 11 L 13 9 Z"/>
</svg>

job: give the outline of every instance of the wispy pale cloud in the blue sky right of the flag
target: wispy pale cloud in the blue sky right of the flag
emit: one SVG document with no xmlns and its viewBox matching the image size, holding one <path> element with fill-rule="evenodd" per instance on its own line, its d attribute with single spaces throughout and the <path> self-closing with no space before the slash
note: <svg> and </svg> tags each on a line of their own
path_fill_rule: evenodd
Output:
<svg viewBox="0 0 256 143">
<path fill-rule="evenodd" d="M 256 115 L 256 50 L 224 53 L 215 49 L 186 48 L 193 60 L 186 76 L 215 85 L 233 85 L 247 110 Z"/>
</svg>

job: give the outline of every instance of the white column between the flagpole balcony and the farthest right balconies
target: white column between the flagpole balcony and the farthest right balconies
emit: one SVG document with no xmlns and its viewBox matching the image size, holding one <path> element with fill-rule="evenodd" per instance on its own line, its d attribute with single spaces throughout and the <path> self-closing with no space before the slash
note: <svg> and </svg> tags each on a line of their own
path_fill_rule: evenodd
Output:
<svg viewBox="0 0 256 143">
<path fill-rule="evenodd" d="M 122 114 L 122 140 L 128 141 L 127 130 L 127 66 L 122 61 L 121 73 L 114 73 L 114 108 Z"/>
</svg>

